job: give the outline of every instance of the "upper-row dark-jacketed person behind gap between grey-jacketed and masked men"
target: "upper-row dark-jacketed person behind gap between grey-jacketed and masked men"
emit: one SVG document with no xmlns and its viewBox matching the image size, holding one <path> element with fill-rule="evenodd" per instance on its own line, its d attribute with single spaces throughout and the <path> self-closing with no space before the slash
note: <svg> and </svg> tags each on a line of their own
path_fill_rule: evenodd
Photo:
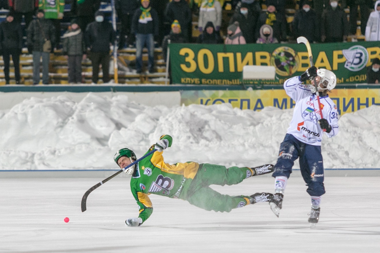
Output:
<svg viewBox="0 0 380 253">
<path fill-rule="evenodd" d="M 73 0 L 71 11 L 78 17 L 78 25 L 85 31 L 87 25 L 94 21 L 95 12 L 100 7 L 100 0 Z"/>
</svg>

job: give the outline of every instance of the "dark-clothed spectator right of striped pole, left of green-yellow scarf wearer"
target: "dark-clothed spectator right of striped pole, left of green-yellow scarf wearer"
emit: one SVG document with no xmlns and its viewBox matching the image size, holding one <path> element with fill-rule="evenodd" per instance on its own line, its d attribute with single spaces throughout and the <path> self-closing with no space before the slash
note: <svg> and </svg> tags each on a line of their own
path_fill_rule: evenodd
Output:
<svg viewBox="0 0 380 253">
<path fill-rule="evenodd" d="M 139 0 L 116 0 L 115 9 L 117 11 L 117 17 L 120 20 L 120 39 L 119 49 L 124 48 L 125 42 L 128 47 L 133 47 L 135 42 L 135 36 L 131 34 L 131 24 L 133 13 L 139 8 Z M 127 36 L 127 40 L 125 40 Z"/>
</svg>

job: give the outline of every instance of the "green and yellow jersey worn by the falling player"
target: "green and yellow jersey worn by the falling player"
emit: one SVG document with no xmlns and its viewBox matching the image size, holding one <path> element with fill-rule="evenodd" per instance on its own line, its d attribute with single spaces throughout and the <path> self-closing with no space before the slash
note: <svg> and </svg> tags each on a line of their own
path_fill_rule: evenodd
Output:
<svg viewBox="0 0 380 253">
<path fill-rule="evenodd" d="M 173 141 L 170 135 L 163 135 L 161 139 Z M 147 151 L 154 149 L 154 145 Z M 156 194 L 169 198 L 185 199 L 188 185 L 198 172 L 199 163 L 185 162 L 168 164 L 164 162 L 161 152 L 154 152 L 137 163 L 137 169 L 131 178 L 131 192 L 139 206 L 139 217 L 142 222 L 147 220 L 153 212 L 152 202 L 148 195 Z"/>
</svg>

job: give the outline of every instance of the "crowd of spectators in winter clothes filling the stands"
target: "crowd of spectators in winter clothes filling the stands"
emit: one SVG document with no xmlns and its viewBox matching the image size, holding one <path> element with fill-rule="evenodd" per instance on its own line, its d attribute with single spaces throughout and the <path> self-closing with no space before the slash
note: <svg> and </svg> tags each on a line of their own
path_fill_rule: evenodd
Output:
<svg viewBox="0 0 380 253">
<path fill-rule="evenodd" d="M 291 22 L 285 15 L 285 2 L 289 1 L 297 6 Z M 34 84 L 40 82 L 40 58 L 42 83 L 49 82 L 49 54 L 60 44 L 67 55 L 70 83 L 81 82 L 78 69 L 86 57 L 92 62 L 92 82 L 98 82 L 100 64 L 103 82 L 109 82 L 109 49 L 117 34 L 119 49 L 136 48 L 136 73 L 144 69 L 144 47 L 148 50 L 146 73 L 151 73 L 155 45 L 162 46 L 166 61 L 168 43 L 285 43 L 299 36 L 314 43 L 344 42 L 349 35 L 355 41 L 358 11 L 361 36 L 367 41 L 380 40 L 380 0 L 375 3 L 374 0 L 115 0 L 117 31 L 99 11 L 100 3 L 101 0 L 73 0 L 70 12 L 73 19 L 61 38 L 65 0 L 9 0 L 8 16 L 0 24 L 6 83 L 9 83 L 10 56 L 18 66 L 21 54 L 22 16 L 26 46 L 33 55 Z M 345 12 L 348 7 L 349 20 Z M 229 10 L 229 20 L 223 20 L 222 9 Z M 371 9 L 374 9 L 372 13 Z M 194 14 L 198 16 L 196 38 L 193 37 Z M 15 68 L 15 79 L 16 83 L 20 82 L 19 67 Z"/>
</svg>

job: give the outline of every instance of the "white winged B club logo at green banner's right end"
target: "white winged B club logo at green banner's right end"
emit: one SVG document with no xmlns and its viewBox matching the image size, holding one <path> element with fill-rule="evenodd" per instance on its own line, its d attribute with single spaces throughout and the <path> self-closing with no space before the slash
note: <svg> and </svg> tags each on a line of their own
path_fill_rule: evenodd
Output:
<svg viewBox="0 0 380 253">
<path fill-rule="evenodd" d="M 350 71 L 359 71 L 363 69 L 368 62 L 368 51 L 363 46 L 352 46 L 349 49 L 342 50 L 346 63 L 344 67 Z"/>
</svg>

